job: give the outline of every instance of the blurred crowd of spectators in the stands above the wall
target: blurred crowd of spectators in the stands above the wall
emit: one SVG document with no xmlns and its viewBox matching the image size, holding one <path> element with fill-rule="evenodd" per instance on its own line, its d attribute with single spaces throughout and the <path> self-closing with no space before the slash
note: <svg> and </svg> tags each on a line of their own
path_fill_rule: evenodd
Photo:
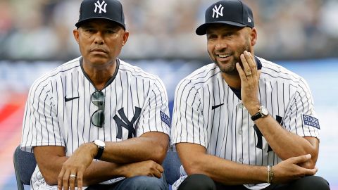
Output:
<svg viewBox="0 0 338 190">
<path fill-rule="evenodd" d="M 73 29 L 80 0 L 0 0 L 1 60 L 79 56 Z M 121 57 L 208 58 L 194 33 L 210 0 L 121 0 L 130 39 Z M 214 2 L 214 1 L 212 1 Z M 337 0 L 244 0 L 258 29 L 255 53 L 269 59 L 337 57 Z"/>
</svg>

